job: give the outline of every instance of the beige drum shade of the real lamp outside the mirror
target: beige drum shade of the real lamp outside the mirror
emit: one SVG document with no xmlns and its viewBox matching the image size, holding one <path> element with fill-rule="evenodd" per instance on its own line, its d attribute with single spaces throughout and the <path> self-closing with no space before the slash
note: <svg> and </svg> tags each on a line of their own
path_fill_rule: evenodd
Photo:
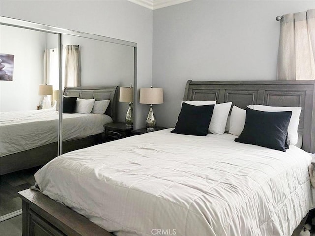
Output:
<svg viewBox="0 0 315 236">
<path fill-rule="evenodd" d="M 162 104 L 163 89 L 162 88 L 141 88 L 140 101 L 141 104 Z"/>
</svg>

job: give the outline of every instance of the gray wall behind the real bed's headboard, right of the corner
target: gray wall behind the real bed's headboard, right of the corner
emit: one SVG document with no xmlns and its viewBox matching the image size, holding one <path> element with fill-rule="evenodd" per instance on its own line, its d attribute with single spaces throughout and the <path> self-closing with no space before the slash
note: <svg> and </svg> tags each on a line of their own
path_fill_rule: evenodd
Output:
<svg viewBox="0 0 315 236">
<path fill-rule="evenodd" d="M 315 1 L 195 0 L 153 11 L 153 86 L 157 125 L 173 127 L 186 81 L 275 80 L 276 16 L 315 8 Z"/>
</svg>

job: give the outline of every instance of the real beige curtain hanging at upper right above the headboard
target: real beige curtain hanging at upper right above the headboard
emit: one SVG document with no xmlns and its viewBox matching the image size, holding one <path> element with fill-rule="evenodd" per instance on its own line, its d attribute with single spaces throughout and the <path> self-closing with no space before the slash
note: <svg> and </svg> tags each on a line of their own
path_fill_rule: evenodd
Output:
<svg viewBox="0 0 315 236">
<path fill-rule="evenodd" d="M 278 80 L 315 79 L 315 9 L 286 14 L 280 22 Z"/>
</svg>

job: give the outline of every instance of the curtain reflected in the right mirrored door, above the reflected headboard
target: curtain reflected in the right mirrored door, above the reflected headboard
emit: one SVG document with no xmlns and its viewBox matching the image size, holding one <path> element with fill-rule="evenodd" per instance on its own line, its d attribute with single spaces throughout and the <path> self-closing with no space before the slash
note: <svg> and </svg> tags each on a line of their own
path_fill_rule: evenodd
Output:
<svg viewBox="0 0 315 236">
<path fill-rule="evenodd" d="M 79 45 L 65 47 L 64 87 L 80 86 L 80 49 Z"/>
</svg>

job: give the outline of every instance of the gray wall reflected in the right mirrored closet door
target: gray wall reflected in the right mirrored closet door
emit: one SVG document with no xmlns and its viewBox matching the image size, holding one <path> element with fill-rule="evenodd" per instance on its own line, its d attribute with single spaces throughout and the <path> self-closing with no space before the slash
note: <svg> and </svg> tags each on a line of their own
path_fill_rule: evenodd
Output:
<svg viewBox="0 0 315 236">
<path fill-rule="evenodd" d="M 80 45 L 81 86 L 133 86 L 133 47 L 63 35 L 63 47 L 66 45 Z M 129 105 L 117 103 L 116 121 L 125 122 Z"/>
</svg>

